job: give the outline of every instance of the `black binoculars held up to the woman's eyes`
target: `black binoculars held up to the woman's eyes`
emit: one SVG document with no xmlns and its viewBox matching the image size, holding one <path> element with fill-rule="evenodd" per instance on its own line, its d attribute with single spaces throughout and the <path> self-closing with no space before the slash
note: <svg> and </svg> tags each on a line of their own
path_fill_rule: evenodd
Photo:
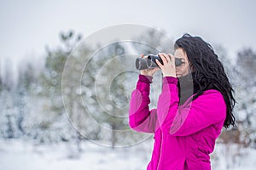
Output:
<svg viewBox="0 0 256 170">
<path fill-rule="evenodd" d="M 155 59 L 158 59 L 160 63 L 163 65 L 163 61 L 158 55 L 149 54 L 148 58 L 137 58 L 135 63 L 137 70 L 144 70 L 144 69 L 159 67 L 159 65 L 156 64 Z M 175 58 L 175 66 L 179 66 L 182 63 L 183 62 L 181 59 Z"/>
</svg>

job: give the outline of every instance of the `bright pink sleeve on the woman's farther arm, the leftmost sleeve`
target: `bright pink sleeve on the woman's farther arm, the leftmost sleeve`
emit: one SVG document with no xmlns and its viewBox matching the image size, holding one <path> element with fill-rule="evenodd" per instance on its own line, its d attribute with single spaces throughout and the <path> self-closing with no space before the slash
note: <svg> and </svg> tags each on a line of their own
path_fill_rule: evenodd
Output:
<svg viewBox="0 0 256 170">
<path fill-rule="evenodd" d="M 149 111 L 149 91 L 152 77 L 139 75 L 137 88 L 131 93 L 129 125 L 137 132 L 154 133 L 157 123 L 156 109 Z"/>
</svg>

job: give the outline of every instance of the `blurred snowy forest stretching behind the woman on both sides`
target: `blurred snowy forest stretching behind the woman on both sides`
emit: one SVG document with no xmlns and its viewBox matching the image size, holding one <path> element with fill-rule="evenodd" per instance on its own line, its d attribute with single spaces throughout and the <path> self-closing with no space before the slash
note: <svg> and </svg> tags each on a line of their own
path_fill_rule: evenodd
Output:
<svg viewBox="0 0 256 170">
<path fill-rule="evenodd" d="M 66 144 L 67 155 L 77 159 L 86 153 L 87 145 L 119 152 L 120 148 L 144 148 L 149 143 L 145 155 L 150 155 L 152 135 L 136 133 L 128 124 L 130 95 L 138 75 L 135 59 L 137 54 L 173 53 L 172 41 L 163 41 L 164 33 L 154 30 L 142 33 L 136 41 L 114 41 L 107 46 L 85 43 L 83 35 L 75 31 L 61 31 L 59 38 L 58 46 L 45 47 L 42 68 L 20 63 L 15 79 L 11 64 L 3 65 L 1 60 L 2 143 L 23 141 L 33 147 Z M 235 90 L 236 127 L 223 128 L 216 145 L 230 159 L 223 168 L 234 169 L 232 165 L 246 157 L 244 150 L 256 149 L 256 53 L 251 47 L 241 47 L 236 56 L 229 56 L 222 45 L 214 43 L 212 47 Z M 159 94 L 157 73 L 150 107 L 156 106 Z M 212 154 L 213 167 L 214 162 L 222 162 L 222 153 Z M 141 159 L 145 166 L 149 157 Z"/>
</svg>

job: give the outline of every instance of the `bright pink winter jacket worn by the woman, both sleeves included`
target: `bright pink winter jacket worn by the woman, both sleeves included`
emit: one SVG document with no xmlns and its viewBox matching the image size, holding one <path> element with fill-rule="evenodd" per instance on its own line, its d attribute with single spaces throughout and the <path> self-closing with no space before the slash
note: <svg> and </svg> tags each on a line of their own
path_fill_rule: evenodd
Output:
<svg viewBox="0 0 256 170">
<path fill-rule="evenodd" d="M 163 77 L 157 109 L 149 111 L 149 83 L 139 75 L 131 94 L 129 123 L 137 132 L 154 133 L 148 170 L 208 170 L 210 154 L 224 125 L 226 105 L 220 92 L 210 89 L 197 99 L 178 105 L 177 78 Z"/>
</svg>

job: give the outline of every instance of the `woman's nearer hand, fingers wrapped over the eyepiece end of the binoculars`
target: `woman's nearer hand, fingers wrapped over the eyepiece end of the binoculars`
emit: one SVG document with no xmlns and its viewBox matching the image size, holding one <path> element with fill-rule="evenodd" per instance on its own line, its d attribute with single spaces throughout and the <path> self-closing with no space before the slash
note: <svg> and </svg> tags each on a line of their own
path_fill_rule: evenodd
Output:
<svg viewBox="0 0 256 170">
<path fill-rule="evenodd" d="M 159 54 L 163 65 L 156 59 L 157 65 L 160 66 L 164 77 L 176 77 L 175 58 L 172 54 Z"/>
</svg>

